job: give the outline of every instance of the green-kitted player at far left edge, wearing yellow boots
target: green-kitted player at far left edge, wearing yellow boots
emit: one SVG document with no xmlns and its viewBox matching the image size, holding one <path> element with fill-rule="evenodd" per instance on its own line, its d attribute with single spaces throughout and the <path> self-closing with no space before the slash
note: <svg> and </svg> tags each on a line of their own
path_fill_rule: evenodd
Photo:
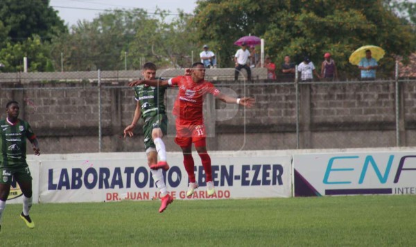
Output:
<svg viewBox="0 0 416 247">
<path fill-rule="evenodd" d="M 40 155 L 39 144 L 28 122 L 18 119 L 19 103 L 6 104 L 7 118 L 0 121 L 0 223 L 10 192 L 12 177 L 23 193 L 23 212 L 20 218 L 28 228 L 35 228 L 29 216 L 32 207 L 32 176 L 26 163 L 26 139 L 33 144 L 35 155 Z"/>
</svg>

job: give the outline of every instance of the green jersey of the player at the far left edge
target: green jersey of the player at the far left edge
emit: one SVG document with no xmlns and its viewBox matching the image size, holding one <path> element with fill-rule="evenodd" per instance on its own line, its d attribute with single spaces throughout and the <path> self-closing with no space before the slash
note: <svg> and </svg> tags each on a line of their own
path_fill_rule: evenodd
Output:
<svg viewBox="0 0 416 247">
<path fill-rule="evenodd" d="M 35 139 L 28 122 L 18 119 L 10 123 L 0 120 L 0 167 L 13 167 L 26 163 L 26 139 Z"/>
</svg>

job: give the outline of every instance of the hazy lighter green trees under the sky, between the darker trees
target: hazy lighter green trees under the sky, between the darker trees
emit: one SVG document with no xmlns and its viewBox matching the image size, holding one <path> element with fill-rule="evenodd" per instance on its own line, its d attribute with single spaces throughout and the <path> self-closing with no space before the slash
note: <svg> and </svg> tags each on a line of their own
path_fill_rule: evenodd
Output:
<svg viewBox="0 0 416 247">
<path fill-rule="evenodd" d="M 187 38 L 187 17 L 165 21 L 166 12 L 157 10 L 114 10 L 92 22 L 78 22 L 67 34 L 53 40 L 55 67 L 63 55 L 64 70 L 138 69 L 152 61 L 159 67 L 189 65 L 191 41 Z M 189 35 L 188 35 L 189 36 Z"/>
</svg>

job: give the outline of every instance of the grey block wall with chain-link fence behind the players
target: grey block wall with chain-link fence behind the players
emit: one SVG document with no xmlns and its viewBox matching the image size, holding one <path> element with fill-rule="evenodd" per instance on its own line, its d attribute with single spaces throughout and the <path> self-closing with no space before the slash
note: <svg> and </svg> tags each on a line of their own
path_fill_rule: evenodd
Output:
<svg viewBox="0 0 416 247">
<path fill-rule="evenodd" d="M 183 70 L 158 71 L 166 78 Z M 141 126 L 123 137 L 135 99 L 127 84 L 140 71 L 0 74 L 0 105 L 14 99 L 37 134 L 44 153 L 144 151 Z M 221 92 L 252 96 L 252 108 L 205 100 L 209 150 L 277 150 L 416 146 L 416 79 L 279 82 L 253 69 L 252 81 L 234 82 L 233 69 L 207 70 Z M 241 76 L 243 78 L 243 76 Z M 177 89 L 166 93 L 168 151 L 174 144 L 172 107 Z M 2 114 L 1 118 L 6 117 Z"/>
</svg>

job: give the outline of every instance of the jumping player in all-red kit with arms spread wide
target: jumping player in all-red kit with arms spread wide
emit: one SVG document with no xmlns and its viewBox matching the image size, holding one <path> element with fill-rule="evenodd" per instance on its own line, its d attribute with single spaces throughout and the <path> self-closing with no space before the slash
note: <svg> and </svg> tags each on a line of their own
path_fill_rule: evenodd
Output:
<svg viewBox="0 0 416 247">
<path fill-rule="evenodd" d="M 205 124 L 202 116 L 202 103 L 205 95 L 212 94 L 225 103 L 236 103 L 247 107 L 252 106 L 254 99 L 249 97 L 236 99 L 221 93 L 212 83 L 205 80 L 205 67 L 201 62 L 192 65 L 191 76 L 177 76 L 169 80 L 137 80 L 130 83 L 129 86 L 133 87 L 141 84 L 155 87 L 179 87 L 177 99 L 173 106 L 173 115 L 176 117 L 175 143 L 182 148 L 184 167 L 189 176 L 187 196 L 192 196 L 195 189 L 198 188 L 193 170 L 195 164 L 191 153 L 192 144 L 195 146 L 205 170 L 208 195 L 213 195 L 215 189 L 212 180 L 211 158 L 207 153 Z"/>
</svg>

